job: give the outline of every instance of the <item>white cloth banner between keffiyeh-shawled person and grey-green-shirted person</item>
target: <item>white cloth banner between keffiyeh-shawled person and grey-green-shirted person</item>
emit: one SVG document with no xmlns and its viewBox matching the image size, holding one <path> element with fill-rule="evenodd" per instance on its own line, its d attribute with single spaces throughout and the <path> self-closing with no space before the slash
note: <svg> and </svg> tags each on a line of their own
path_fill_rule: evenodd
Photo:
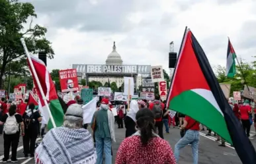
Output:
<svg viewBox="0 0 256 164">
<path fill-rule="evenodd" d="M 97 97 L 89 101 L 89 103 L 83 105 L 83 124 L 91 123 L 93 114 L 96 111 Z"/>
</svg>

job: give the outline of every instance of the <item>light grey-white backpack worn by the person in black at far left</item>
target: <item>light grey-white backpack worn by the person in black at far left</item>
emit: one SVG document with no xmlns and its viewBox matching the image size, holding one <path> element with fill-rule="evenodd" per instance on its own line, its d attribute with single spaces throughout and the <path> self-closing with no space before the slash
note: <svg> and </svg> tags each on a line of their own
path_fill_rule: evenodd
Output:
<svg viewBox="0 0 256 164">
<path fill-rule="evenodd" d="M 16 115 L 17 113 L 15 113 Z M 5 121 L 4 125 L 4 132 L 5 134 L 15 134 L 19 131 L 19 124 L 17 123 L 15 115 L 10 116 L 9 113 L 7 113 L 8 117 Z"/>
</svg>

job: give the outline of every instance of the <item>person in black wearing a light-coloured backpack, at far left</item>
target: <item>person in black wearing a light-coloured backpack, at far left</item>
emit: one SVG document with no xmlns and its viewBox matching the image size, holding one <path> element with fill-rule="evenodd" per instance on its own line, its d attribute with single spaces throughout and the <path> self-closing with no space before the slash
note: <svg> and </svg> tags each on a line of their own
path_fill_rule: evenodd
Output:
<svg viewBox="0 0 256 164">
<path fill-rule="evenodd" d="M 6 163 L 9 159 L 9 151 L 11 148 L 11 162 L 15 163 L 17 159 L 17 148 L 19 145 L 20 133 L 24 136 L 24 124 L 22 117 L 16 113 L 16 105 L 11 105 L 9 113 L 5 114 L 0 121 L 2 125 L 5 123 L 3 130 L 3 145 L 4 145 L 4 157 L 3 163 Z M 21 130 L 19 128 L 21 126 Z"/>
</svg>

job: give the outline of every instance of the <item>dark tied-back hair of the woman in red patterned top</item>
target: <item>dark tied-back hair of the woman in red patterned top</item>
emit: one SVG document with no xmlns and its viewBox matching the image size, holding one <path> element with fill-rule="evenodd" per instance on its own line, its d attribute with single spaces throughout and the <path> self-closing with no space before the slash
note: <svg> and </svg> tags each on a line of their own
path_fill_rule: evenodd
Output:
<svg viewBox="0 0 256 164">
<path fill-rule="evenodd" d="M 155 121 L 153 113 L 148 109 L 140 109 L 136 113 L 137 126 L 140 128 L 140 140 L 142 145 L 147 145 L 155 132 Z M 152 132 L 153 130 L 153 132 Z"/>
</svg>

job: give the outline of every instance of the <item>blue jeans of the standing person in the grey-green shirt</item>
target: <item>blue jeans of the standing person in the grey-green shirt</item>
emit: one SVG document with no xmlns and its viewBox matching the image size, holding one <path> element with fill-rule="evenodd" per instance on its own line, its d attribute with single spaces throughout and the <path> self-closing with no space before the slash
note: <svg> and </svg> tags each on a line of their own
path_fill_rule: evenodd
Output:
<svg viewBox="0 0 256 164">
<path fill-rule="evenodd" d="M 97 152 L 96 164 L 103 164 L 103 148 L 105 151 L 105 164 L 112 164 L 111 138 L 95 137 L 95 140 L 96 140 L 96 152 Z"/>
</svg>

